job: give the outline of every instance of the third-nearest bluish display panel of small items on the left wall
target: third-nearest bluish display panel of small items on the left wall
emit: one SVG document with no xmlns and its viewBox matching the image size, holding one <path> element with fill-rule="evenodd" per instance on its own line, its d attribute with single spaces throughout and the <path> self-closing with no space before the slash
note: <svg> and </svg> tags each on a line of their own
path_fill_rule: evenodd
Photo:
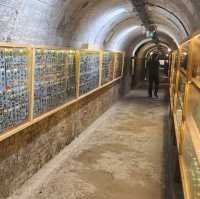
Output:
<svg viewBox="0 0 200 199">
<path fill-rule="evenodd" d="M 100 53 L 80 51 L 80 96 L 99 86 Z"/>
</svg>

